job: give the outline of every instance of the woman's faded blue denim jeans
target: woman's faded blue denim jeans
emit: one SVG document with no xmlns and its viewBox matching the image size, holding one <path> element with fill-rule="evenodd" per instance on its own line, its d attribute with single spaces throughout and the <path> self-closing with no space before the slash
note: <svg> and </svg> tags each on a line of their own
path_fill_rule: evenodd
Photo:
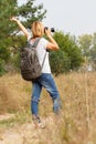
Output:
<svg viewBox="0 0 96 144">
<path fill-rule="evenodd" d="M 58 113 L 61 107 L 60 94 L 56 89 L 55 82 L 51 73 L 42 73 L 36 82 L 33 82 L 33 91 L 31 99 L 31 112 L 34 115 L 39 115 L 39 101 L 42 88 L 45 88 L 50 93 L 50 96 L 53 100 L 53 111 L 54 113 Z"/>
</svg>

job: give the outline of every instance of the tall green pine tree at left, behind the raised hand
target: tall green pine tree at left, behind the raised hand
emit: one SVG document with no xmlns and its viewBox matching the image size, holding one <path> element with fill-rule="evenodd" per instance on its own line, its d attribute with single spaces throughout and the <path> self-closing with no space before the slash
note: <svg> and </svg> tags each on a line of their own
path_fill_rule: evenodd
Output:
<svg viewBox="0 0 96 144">
<path fill-rule="evenodd" d="M 17 16 L 23 24 L 29 29 L 34 20 L 42 20 L 46 10 L 43 4 L 34 6 L 35 0 L 28 0 L 21 7 L 18 0 L 0 0 L 0 72 L 6 71 L 6 64 L 10 60 L 10 48 L 15 44 L 14 34 L 20 30 L 18 25 L 10 21 L 12 16 Z M 22 44 L 22 41 L 19 40 Z M 20 45 L 21 45 L 20 44 Z M 18 44 L 15 44 L 17 47 Z M 13 48 L 15 48 L 13 47 Z M 3 69 L 3 71 L 2 71 Z"/>
</svg>

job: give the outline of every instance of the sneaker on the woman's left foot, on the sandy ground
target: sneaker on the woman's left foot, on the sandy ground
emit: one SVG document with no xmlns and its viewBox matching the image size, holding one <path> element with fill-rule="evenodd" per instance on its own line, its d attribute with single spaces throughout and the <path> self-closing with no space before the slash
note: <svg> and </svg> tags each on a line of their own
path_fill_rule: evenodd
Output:
<svg viewBox="0 0 96 144">
<path fill-rule="evenodd" d="M 40 128 L 44 128 L 45 124 L 43 122 L 41 122 L 40 117 L 38 115 L 33 115 L 33 123 L 35 125 L 35 127 L 40 127 Z"/>
</svg>

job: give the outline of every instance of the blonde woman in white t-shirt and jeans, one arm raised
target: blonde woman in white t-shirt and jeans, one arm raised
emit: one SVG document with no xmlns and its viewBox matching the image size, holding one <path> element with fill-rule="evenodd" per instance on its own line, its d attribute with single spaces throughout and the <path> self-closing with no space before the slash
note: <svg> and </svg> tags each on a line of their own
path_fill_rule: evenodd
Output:
<svg viewBox="0 0 96 144">
<path fill-rule="evenodd" d="M 31 35 L 28 32 L 28 30 L 24 28 L 24 25 L 14 17 L 11 18 L 11 21 L 14 21 L 18 23 L 18 25 L 20 27 L 20 29 L 25 34 L 25 37 L 29 41 Z M 32 39 L 31 39 L 30 43 L 33 44 L 33 42 L 36 40 L 36 38 L 41 38 L 40 42 L 36 47 L 36 51 L 38 51 L 39 61 L 42 64 L 46 49 L 55 51 L 55 50 L 58 50 L 60 48 L 58 48 L 56 41 L 51 35 L 51 30 L 44 29 L 44 25 L 42 22 L 34 21 L 32 23 L 31 31 L 32 31 Z M 49 41 L 43 38 L 44 34 L 46 34 L 46 37 L 49 38 Z M 39 80 L 36 82 L 33 82 L 32 84 L 33 84 L 32 99 L 31 99 L 32 117 L 33 117 L 33 122 L 35 123 L 35 125 L 41 126 L 42 124 L 41 124 L 41 120 L 39 116 L 39 101 L 40 101 L 40 94 L 41 94 L 42 88 L 45 88 L 52 97 L 53 112 L 58 113 L 58 111 L 61 109 L 60 94 L 58 94 L 57 88 L 55 85 L 55 82 L 53 80 L 53 75 L 51 73 L 51 66 L 50 66 L 50 62 L 49 62 L 49 52 L 46 53 L 46 56 L 45 56 L 45 61 L 44 61 L 43 69 L 42 69 L 42 75 L 39 78 Z"/>
</svg>

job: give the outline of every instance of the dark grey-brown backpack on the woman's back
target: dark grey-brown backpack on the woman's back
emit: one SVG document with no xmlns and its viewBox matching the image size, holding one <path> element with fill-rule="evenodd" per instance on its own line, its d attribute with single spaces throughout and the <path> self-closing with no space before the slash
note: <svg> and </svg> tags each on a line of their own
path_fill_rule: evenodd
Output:
<svg viewBox="0 0 96 144">
<path fill-rule="evenodd" d="M 41 76 L 42 68 L 44 64 L 45 55 L 42 65 L 39 62 L 36 47 L 41 38 L 36 38 L 33 44 L 28 42 L 25 48 L 20 51 L 20 69 L 21 75 L 26 81 L 36 81 Z"/>
</svg>

